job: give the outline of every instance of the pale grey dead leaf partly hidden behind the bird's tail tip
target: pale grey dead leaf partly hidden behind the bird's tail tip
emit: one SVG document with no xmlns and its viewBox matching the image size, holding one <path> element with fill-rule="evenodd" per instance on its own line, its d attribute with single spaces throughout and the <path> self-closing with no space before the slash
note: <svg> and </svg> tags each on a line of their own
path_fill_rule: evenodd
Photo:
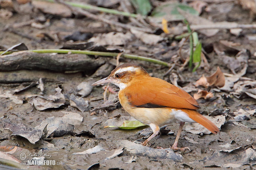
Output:
<svg viewBox="0 0 256 170">
<path fill-rule="evenodd" d="M 205 116 L 205 115 L 204 115 Z M 222 125 L 224 125 L 226 116 L 219 115 L 219 116 L 205 116 L 207 119 L 209 119 L 211 122 L 213 122 L 219 129 Z M 190 125 L 186 125 L 185 130 L 193 133 L 193 134 L 210 134 L 211 132 L 205 128 L 203 125 L 200 125 L 199 123 L 191 123 Z"/>
</svg>

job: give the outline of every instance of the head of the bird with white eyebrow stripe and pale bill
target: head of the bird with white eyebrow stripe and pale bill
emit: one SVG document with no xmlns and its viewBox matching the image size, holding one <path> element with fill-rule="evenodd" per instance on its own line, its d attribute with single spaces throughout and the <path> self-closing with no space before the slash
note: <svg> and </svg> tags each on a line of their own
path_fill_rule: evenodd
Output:
<svg viewBox="0 0 256 170">
<path fill-rule="evenodd" d="M 122 90 L 126 88 L 134 78 L 140 79 L 144 76 L 149 76 L 149 74 L 143 67 L 132 63 L 125 63 L 111 71 L 111 74 L 108 77 L 94 82 L 92 85 L 111 82 Z"/>
</svg>

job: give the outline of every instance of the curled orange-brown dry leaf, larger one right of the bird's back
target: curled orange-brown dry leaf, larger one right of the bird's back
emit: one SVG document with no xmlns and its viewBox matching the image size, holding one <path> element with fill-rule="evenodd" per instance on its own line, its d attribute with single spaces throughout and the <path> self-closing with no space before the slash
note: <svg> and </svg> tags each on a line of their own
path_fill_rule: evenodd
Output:
<svg viewBox="0 0 256 170">
<path fill-rule="evenodd" d="M 215 73 L 212 74 L 211 76 L 205 77 L 203 74 L 203 76 L 200 79 L 198 79 L 198 81 L 195 82 L 195 87 L 198 87 L 200 85 L 206 88 L 209 86 L 216 86 L 221 88 L 225 85 L 224 74 L 222 73 L 221 69 L 218 67 L 217 71 L 215 71 Z"/>
</svg>

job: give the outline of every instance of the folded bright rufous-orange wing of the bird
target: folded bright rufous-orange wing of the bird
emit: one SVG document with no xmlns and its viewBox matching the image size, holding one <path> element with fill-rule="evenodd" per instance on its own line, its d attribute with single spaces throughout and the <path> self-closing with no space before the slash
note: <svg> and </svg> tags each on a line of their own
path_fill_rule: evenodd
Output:
<svg viewBox="0 0 256 170">
<path fill-rule="evenodd" d="M 162 79 L 148 77 L 122 90 L 131 105 L 198 109 L 198 102 L 186 91 Z"/>
</svg>

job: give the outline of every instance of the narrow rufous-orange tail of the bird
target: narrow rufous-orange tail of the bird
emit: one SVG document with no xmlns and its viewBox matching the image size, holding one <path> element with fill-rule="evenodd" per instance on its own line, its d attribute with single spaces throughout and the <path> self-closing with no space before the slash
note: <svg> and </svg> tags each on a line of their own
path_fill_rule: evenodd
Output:
<svg viewBox="0 0 256 170">
<path fill-rule="evenodd" d="M 214 123 L 209 121 L 209 119 L 207 119 L 206 117 L 204 117 L 203 115 L 201 115 L 197 111 L 189 110 L 189 109 L 184 109 L 183 111 L 188 114 L 189 118 L 191 118 L 195 122 L 198 122 L 199 124 L 203 125 L 208 130 L 210 130 L 212 133 L 217 134 L 217 132 L 220 131 L 218 129 L 218 127 L 216 125 L 214 125 Z"/>
</svg>

